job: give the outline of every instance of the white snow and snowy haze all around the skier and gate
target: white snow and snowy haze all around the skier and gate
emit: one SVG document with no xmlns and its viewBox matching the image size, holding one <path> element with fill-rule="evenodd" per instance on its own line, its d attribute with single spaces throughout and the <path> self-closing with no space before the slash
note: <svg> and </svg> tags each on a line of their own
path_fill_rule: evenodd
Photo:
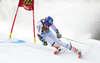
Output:
<svg viewBox="0 0 100 63">
<path fill-rule="evenodd" d="M 54 55 L 56 49 L 50 45 L 43 46 L 38 37 L 34 43 L 32 12 L 23 8 L 19 8 L 12 39 L 9 40 L 17 4 L 18 0 L 0 2 L 0 41 L 7 42 L 0 43 L 0 63 L 100 63 L 100 41 L 91 39 L 91 29 L 100 15 L 99 0 L 35 0 L 35 23 L 48 15 L 52 16 L 63 37 L 88 44 L 71 42 L 82 50 L 81 59 L 65 48 Z M 13 40 L 23 40 L 25 43 L 8 43 Z"/>
</svg>

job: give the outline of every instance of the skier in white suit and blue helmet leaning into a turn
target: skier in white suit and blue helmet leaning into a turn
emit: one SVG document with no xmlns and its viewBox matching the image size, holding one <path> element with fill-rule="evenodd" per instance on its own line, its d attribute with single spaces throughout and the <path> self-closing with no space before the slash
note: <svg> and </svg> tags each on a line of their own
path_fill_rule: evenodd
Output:
<svg viewBox="0 0 100 63">
<path fill-rule="evenodd" d="M 53 29 L 51 30 L 50 29 Z M 54 33 L 54 32 L 55 33 Z M 48 16 L 45 19 L 41 19 L 37 24 L 37 36 L 42 41 L 43 45 L 47 46 L 48 43 L 51 44 L 52 47 L 55 47 L 57 51 L 54 52 L 54 54 L 59 53 L 62 49 L 60 46 L 65 47 L 71 51 L 76 52 L 79 55 L 79 58 L 81 57 L 81 52 L 73 47 L 70 44 L 63 42 L 59 40 L 59 38 L 62 37 L 62 35 L 59 33 L 58 29 L 53 24 L 53 18 Z"/>
</svg>

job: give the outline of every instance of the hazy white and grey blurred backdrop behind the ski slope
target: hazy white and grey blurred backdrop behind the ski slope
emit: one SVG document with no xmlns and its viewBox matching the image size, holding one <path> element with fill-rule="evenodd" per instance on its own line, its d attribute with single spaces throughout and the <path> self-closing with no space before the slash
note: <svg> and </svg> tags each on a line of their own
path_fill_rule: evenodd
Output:
<svg viewBox="0 0 100 63">
<path fill-rule="evenodd" d="M 0 22 L 13 23 L 18 2 L 0 0 Z M 65 37 L 100 40 L 100 0 L 35 0 L 34 11 L 35 23 L 51 16 Z M 31 11 L 19 8 L 16 24 L 32 29 L 32 20 Z"/>
</svg>

